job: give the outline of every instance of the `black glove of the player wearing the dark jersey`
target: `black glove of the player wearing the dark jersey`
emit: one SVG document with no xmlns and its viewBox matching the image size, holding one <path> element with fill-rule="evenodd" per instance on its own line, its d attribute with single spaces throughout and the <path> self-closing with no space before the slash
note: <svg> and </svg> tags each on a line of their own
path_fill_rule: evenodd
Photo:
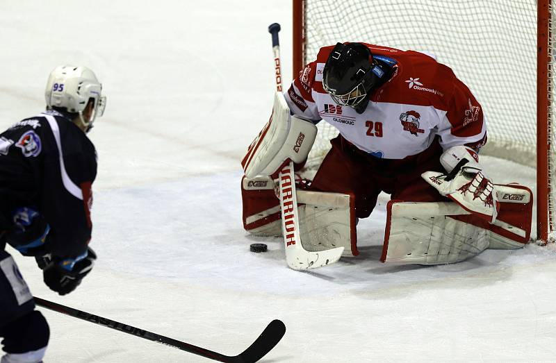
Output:
<svg viewBox="0 0 556 363">
<path fill-rule="evenodd" d="M 48 255 L 37 258 L 37 264 L 43 269 L 42 276 L 44 283 L 51 290 L 60 295 L 70 294 L 81 284 L 81 280 L 92 269 L 92 265 L 97 260 L 97 255 L 92 248 L 88 248 L 83 255 L 71 259 L 50 258 Z"/>
</svg>

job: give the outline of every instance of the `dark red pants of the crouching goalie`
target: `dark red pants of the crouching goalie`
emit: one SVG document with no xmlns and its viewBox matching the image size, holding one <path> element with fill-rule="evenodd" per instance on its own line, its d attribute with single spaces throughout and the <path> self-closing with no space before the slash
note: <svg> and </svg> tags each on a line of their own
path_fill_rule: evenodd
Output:
<svg viewBox="0 0 556 363">
<path fill-rule="evenodd" d="M 421 178 L 425 171 L 445 172 L 440 164 L 443 151 L 438 140 L 429 149 L 401 160 L 376 158 L 357 149 L 341 135 L 331 143 L 332 149 L 322 161 L 310 189 L 354 194 L 359 218 L 370 215 L 380 192 L 401 201 L 448 201 Z"/>
</svg>

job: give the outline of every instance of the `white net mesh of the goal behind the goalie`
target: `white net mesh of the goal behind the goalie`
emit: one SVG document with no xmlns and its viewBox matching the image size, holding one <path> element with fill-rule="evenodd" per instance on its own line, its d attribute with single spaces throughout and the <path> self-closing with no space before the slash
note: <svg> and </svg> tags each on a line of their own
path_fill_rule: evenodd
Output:
<svg viewBox="0 0 556 363">
<path fill-rule="evenodd" d="M 489 130 L 483 152 L 535 166 L 535 0 L 306 0 L 304 31 L 304 62 L 313 60 L 320 47 L 336 42 L 433 53 L 482 104 Z M 309 155 L 313 166 L 336 135 L 323 122 L 318 127 L 318 141 Z"/>
</svg>

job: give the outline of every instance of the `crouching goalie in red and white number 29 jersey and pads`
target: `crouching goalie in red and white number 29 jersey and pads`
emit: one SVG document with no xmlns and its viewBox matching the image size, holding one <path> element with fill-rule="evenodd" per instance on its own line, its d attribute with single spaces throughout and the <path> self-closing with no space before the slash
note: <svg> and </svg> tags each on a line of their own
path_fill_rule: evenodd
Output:
<svg viewBox="0 0 556 363">
<path fill-rule="evenodd" d="M 300 133 L 320 121 L 339 131 L 313 180 L 298 192 L 345 200 L 332 208 L 333 217 L 307 217 L 321 219 L 320 230 L 335 220 L 343 225 L 313 234 L 313 248 L 315 240 L 339 233 L 341 242 L 332 239 L 332 246 L 357 255 L 355 221 L 370 217 L 380 192 L 391 195 L 383 262 L 443 264 L 528 243 L 530 189 L 493 183 L 479 160 L 486 143 L 482 106 L 434 57 L 366 43 L 323 47 L 284 100 L 282 117 L 302 121 Z M 275 102 L 272 118 L 276 111 Z M 290 149 L 300 133 L 280 132 L 271 121 L 243 160 L 243 223 L 257 235 L 281 233 L 277 171 L 287 160 L 302 164 L 312 145 L 296 155 Z M 299 199 L 305 212 L 311 210 L 313 199 Z M 310 233 L 311 223 L 303 233 Z"/>
</svg>

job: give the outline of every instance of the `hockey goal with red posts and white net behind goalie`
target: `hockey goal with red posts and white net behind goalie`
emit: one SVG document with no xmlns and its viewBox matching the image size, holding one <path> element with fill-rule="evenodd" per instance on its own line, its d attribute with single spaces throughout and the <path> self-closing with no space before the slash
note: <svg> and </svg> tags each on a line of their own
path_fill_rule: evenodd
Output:
<svg viewBox="0 0 556 363">
<path fill-rule="evenodd" d="M 293 0 L 293 74 L 336 42 L 433 53 L 483 107 L 481 152 L 537 168 L 537 238 L 546 242 L 556 191 L 551 12 L 549 0 Z M 309 166 L 337 135 L 325 122 L 318 128 Z"/>
</svg>

